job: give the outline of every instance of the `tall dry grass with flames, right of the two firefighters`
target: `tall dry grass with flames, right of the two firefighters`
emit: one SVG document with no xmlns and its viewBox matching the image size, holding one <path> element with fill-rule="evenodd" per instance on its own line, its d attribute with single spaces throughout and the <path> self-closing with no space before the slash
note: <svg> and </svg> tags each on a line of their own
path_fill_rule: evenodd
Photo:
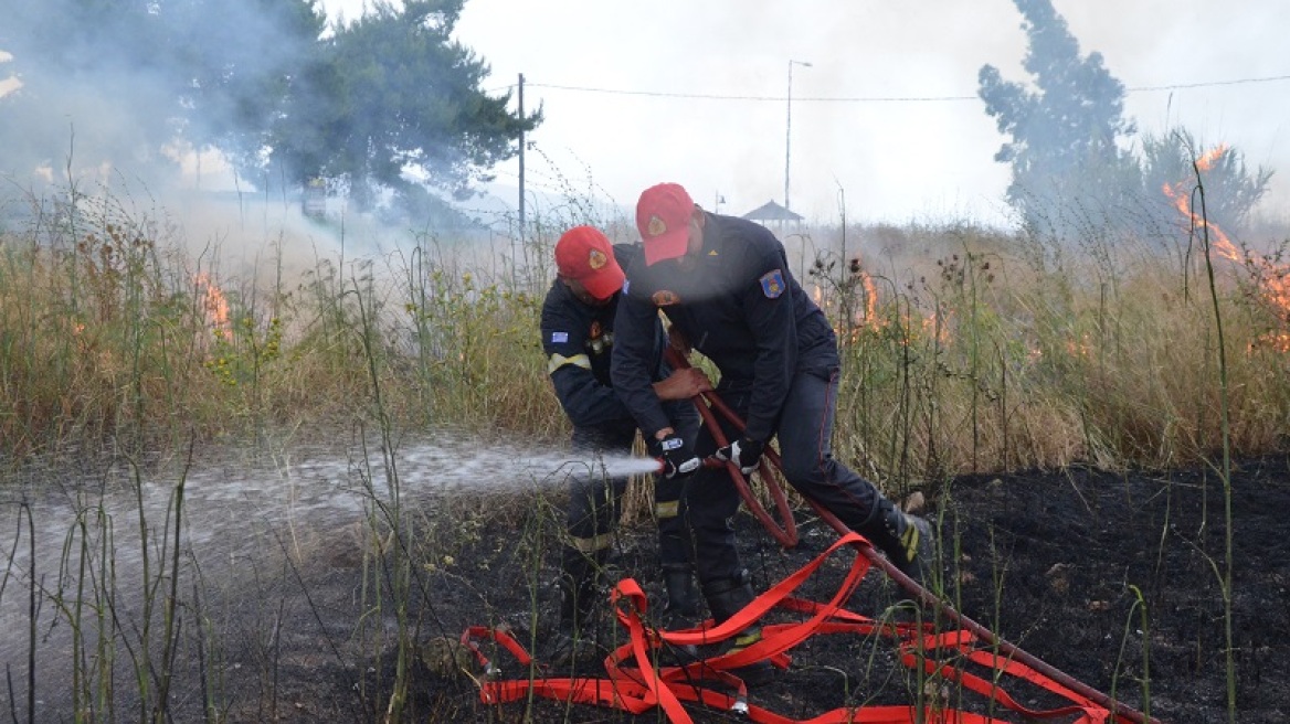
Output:
<svg viewBox="0 0 1290 724">
<path fill-rule="evenodd" d="M 1076 462 L 1191 465 L 1222 451 L 1200 256 L 1127 234 L 1094 250 L 1044 243 L 960 229 L 899 277 L 863 264 L 817 268 L 844 340 L 844 459 L 916 481 Z M 1242 455 L 1280 450 L 1290 411 L 1286 310 L 1255 258 L 1218 263 Z"/>
</svg>

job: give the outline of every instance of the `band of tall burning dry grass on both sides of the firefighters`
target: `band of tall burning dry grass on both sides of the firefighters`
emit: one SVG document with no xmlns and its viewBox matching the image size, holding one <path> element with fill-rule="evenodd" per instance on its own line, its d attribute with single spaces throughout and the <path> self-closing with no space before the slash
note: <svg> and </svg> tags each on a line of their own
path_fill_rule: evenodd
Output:
<svg viewBox="0 0 1290 724">
<path fill-rule="evenodd" d="M 235 274 L 184 254 L 164 224 L 110 200 L 84 206 L 4 237 L 10 455 L 353 424 L 370 419 L 373 374 L 397 426 L 562 437 L 534 338 L 546 264 L 521 282 L 414 238 L 406 254 L 319 255 L 285 278 L 277 237 L 259 252 L 270 269 Z M 799 277 L 842 341 L 840 455 L 894 484 L 1206 459 L 1222 441 L 1197 225 L 1180 211 L 1164 246 L 1098 233 L 1071 247 L 965 225 L 797 240 Z M 1284 264 L 1210 231 L 1233 450 L 1260 455 L 1282 444 L 1290 416 Z M 808 241 L 840 250 L 808 259 Z M 550 240 L 533 243 L 544 259 Z"/>
</svg>

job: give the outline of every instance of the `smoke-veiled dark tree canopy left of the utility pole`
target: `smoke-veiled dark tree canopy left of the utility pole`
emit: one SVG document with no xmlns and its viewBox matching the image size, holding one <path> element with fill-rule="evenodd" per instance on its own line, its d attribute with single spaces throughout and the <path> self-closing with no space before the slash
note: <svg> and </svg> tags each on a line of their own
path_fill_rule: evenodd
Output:
<svg viewBox="0 0 1290 724">
<path fill-rule="evenodd" d="M 452 37 L 464 1 L 378 0 L 333 26 L 319 0 L 17 4 L 0 49 L 23 86 L 0 98 L 0 170 L 61 167 L 74 125 L 90 165 L 164 165 L 182 142 L 259 187 L 463 196 L 542 120 L 481 89 L 489 66 Z"/>
</svg>

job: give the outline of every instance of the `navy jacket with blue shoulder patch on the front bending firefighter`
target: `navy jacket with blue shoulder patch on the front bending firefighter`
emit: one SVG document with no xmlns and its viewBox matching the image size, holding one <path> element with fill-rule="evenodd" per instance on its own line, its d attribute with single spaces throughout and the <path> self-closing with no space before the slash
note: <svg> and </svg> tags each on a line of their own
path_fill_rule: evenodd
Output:
<svg viewBox="0 0 1290 724">
<path fill-rule="evenodd" d="M 833 330 L 788 271 L 784 246 L 752 222 L 707 214 L 690 267 L 675 259 L 648 267 L 641 255 L 624 271 L 613 381 L 646 439 L 668 426 L 650 388 L 658 310 L 721 371 L 719 392 L 748 393 L 746 434 L 761 442 L 778 428 L 793 376 L 837 365 Z"/>
</svg>

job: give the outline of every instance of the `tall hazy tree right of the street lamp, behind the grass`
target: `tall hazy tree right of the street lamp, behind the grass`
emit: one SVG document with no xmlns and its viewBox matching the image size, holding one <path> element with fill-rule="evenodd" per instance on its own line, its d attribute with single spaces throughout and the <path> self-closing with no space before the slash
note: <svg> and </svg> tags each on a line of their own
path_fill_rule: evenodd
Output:
<svg viewBox="0 0 1290 724">
<path fill-rule="evenodd" d="M 1004 80 L 995 66 L 978 76 L 986 112 L 1009 138 L 995 160 L 1011 165 L 1007 201 L 1032 229 L 1057 236 L 1093 225 L 1142 228 L 1176 219 L 1166 186 L 1186 183 L 1202 155 L 1186 129 L 1147 135 L 1134 146 L 1135 126 L 1124 117 L 1125 86 L 1100 53 L 1081 55 L 1051 0 L 1013 0 L 1028 39 L 1023 68 L 1029 82 Z M 1250 171 L 1232 147 L 1213 149 L 1205 169 L 1213 222 L 1244 222 L 1267 191 L 1272 173 Z M 1161 216 L 1162 215 L 1162 216 Z"/>
</svg>

